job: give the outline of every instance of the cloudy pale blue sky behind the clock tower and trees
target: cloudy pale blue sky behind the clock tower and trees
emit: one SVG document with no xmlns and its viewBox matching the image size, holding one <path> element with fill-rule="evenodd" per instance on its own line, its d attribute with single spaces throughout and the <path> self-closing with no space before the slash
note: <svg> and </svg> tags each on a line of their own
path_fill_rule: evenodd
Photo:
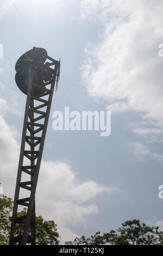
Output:
<svg viewBox="0 0 163 256">
<path fill-rule="evenodd" d="M 0 178 L 14 198 L 26 95 L 15 63 L 33 46 L 61 58 L 36 214 L 60 241 L 133 218 L 163 228 L 161 0 L 0 1 Z M 54 111 L 111 111 L 111 135 L 54 131 Z"/>
</svg>

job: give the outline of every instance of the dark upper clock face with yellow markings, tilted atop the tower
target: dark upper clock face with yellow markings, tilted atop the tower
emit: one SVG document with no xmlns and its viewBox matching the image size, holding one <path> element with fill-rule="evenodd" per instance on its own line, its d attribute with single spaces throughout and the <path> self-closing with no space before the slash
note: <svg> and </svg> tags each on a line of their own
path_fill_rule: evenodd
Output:
<svg viewBox="0 0 163 256">
<path fill-rule="evenodd" d="M 45 63 L 47 51 L 43 48 L 33 47 L 24 53 L 16 62 L 15 70 L 21 74 L 29 74 L 32 69 L 38 69 L 39 65 Z"/>
</svg>

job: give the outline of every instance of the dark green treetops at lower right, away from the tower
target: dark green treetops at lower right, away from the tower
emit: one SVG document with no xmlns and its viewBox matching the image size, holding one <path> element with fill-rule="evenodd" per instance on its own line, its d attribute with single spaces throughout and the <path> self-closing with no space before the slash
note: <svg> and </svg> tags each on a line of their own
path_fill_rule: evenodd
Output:
<svg viewBox="0 0 163 256">
<path fill-rule="evenodd" d="M 159 227 L 148 227 L 139 220 L 131 220 L 122 223 L 122 228 L 111 230 L 101 235 L 96 232 L 86 238 L 76 237 L 74 241 L 68 241 L 66 245 L 163 245 L 163 232 Z"/>
</svg>

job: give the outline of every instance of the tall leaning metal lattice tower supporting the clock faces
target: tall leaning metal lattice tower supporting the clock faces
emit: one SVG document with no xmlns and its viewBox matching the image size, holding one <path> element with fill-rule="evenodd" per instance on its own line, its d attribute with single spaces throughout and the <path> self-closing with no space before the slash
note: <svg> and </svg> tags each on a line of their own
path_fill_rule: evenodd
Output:
<svg viewBox="0 0 163 256">
<path fill-rule="evenodd" d="M 34 47 L 33 49 L 36 51 L 39 48 Z M 30 58 L 28 57 L 28 59 Z M 40 64 L 37 70 L 34 65 L 30 66 L 31 69 L 28 72 L 26 111 L 24 114 L 9 245 L 14 245 L 15 243 L 18 245 L 26 245 L 26 243 L 35 245 L 35 191 L 54 86 L 56 82 L 57 89 L 60 73 L 60 61 L 54 60 L 49 56 L 47 56 L 47 59 L 49 62 Z M 40 73 L 38 73 L 38 70 L 41 70 Z M 39 76 L 42 76 L 42 74 L 45 76 L 42 81 L 36 79 L 38 74 Z M 36 81 L 41 81 L 41 84 L 36 83 Z M 26 206 L 27 214 L 25 216 L 17 216 L 19 205 Z M 17 223 L 22 223 L 23 232 L 21 235 L 16 236 Z"/>
</svg>

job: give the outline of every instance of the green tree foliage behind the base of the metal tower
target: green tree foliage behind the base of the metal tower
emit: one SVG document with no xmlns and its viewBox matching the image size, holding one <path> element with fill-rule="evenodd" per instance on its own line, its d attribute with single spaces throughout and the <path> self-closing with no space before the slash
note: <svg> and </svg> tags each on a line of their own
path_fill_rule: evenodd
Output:
<svg viewBox="0 0 163 256">
<path fill-rule="evenodd" d="M 12 207 L 12 199 L 3 195 L 0 198 L 0 245 L 8 245 L 9 242 Z M 17 217 L 26 214 L 27 209 L 24 208 L 18 212 Z M 37 245 L 58 245 L 57 224 L 54 221 L 44 221 L 41 216 L 36 216 L 35 221 Z M 15 234 L 22 234 L 22 228 L 22 224 L 17 224 Z"/>
</svg>

